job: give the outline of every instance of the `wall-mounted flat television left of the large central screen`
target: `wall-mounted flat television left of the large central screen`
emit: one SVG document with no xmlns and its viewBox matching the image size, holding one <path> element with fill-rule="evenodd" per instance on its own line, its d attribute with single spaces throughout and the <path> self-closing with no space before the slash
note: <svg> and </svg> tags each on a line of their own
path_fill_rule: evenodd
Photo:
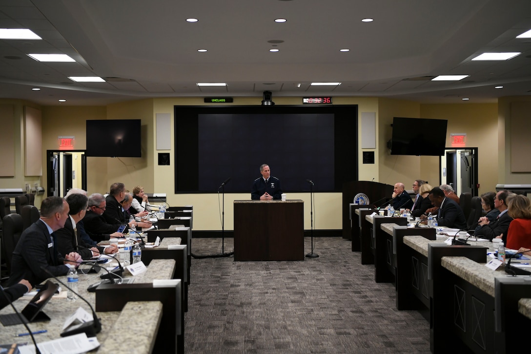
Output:
<svg viewBox="0 0 531 354">
<path fill-rule="evenodd" d="M 87 121 L 87 156 L 141 157 L 141 120 Z"/>
</svg>

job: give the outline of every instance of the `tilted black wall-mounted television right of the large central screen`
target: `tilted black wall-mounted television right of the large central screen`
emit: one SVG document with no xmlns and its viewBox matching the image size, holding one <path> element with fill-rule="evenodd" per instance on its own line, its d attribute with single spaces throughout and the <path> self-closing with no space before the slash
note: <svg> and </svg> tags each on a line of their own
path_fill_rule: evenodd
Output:
<svg viewBox="0 0 531 354">
<path fill-rule="evenodd" d="M 444 155 L 447 126 L 444 119 L 394 117 L 391 155 Z"/>
</svg>

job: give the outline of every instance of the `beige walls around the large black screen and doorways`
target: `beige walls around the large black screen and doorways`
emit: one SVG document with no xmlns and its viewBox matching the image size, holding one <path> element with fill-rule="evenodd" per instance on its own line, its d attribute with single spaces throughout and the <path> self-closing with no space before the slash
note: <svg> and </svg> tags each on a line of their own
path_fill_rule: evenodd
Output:
<svg viewBox="0 0 531 354">
<path fill-rule="evenodd" d="M 413 180 L 423 178 L 433 185 L 438 184 L 438 157 L 391 156 L 387 149 L 387 141 L 391 138 L 391 123 L 395 116 L 448 119 L 449 133 L 466 132 L 467 146 L 479 148 L 479 183 L 481 184 L 480 191 L 484 192 L 493 190 L 496 183 L 509 183 L 509 181 L 511 183 L 528 183 L 529 181 L 527 174 L 524 176 L 521 174 L 511 175 L 500 168 L 503 158 L 507 154 L 504 144 L 504 127 L 506 121 L 510 119 L 510 102 L 519 99 L 521 98 L 501 99 L 499 105 L 421 105 L 416 102 L 388 98 L 338 97 L 334 98 L 334 103 L 358 105 L 358 127 L 359 116 L 362 112 L 375 112 L 376 115 L 376 149 L 363 150 L 375 151 L 375 164 L 362 164 L 362 150 L 360 149 L 358 152 L 359 180 L 371 181 L 374 178 L 374 181 L 389 184 L 402 181 L 408 186 Z M 259 105 L 261 98 L 236 97 L 234 100 L 234 105 Z M 277 105 L 298 105 L 300 101 L 300 98 L 275 98 Z M 20 100 L 0 100 L 0 104 L 14 105 L 15 130 L 20 131 L 20 134 L 15 134 L 14 137 L 15 177 L 0 178 L 0 188 L 24 188 L 25 183 L 33 184 L 35 181 L 40 182 L 41 186 L 46 186 L 46 173 L 42 178 L 27 178 L 23 175 L 23 105 L 28 103 Z M 89 119 L 141 119 L 142 157 L 88 157 L 88 192 L 106 192 L 110 184 L 116 181 L 125 183 L 130 190 L 136 184 L 142 184 L 147 192 L 167 193 L 169 205 L 194 205 L 195 230 L 220 230 L 221 196 L 218 198 L 217 193 L 176 195 L 173 192 L 174 105 L 204 105 L 204 103 L 202 98 L 157 98 L 109 106 L 36 106 L 42 111 L 42 150 L 57 150 L 58 136 L 75 136 L 74 149 L 85 149 L 85 121 Z M 157 113 L 170 113 L 172 116 L 170 150 L 156 150 L 155 115 Z M 358 129 L 357 138 L 358 141 L 361 140 L 361 129 Z M 449 144 L 448 140 L 447 146 Z M 159 152 L 170 153 L 169 166 L 158 166 Z M 43 166 L 45 166 L 45 156 L 42 158 Z M 496 167 L 492 163 L 498 160 L 500 160 L 500 167 Z M 182 168 L 186 168 L 186 166 Z M 494 171 L 495 168 L 498 169 L 498 175 Z M 233 201 L 248 198 L 247 193 L 230 193 L 225 196 L 225 230 L 233 229 Z M 293 193 L 288 198 L 305 201 L 305 229 L 310 229 L 309 193 Z M 341 193 L 316 193 L 314 202 L 314 228 L 318 230 L 340 229 Z"/>
</svg>

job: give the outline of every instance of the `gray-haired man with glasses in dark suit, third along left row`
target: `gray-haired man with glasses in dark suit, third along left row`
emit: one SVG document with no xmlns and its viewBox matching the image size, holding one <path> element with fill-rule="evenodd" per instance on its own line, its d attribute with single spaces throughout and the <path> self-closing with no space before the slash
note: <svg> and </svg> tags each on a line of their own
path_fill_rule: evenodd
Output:
<svg viewBox="0 0 531 354">
<path fill-rule="evenodd" d="M 108 224 L 102 216 L 106 209 L 105 197 L 100 193 L 94 193 L 89 197 L 89 208 L 83 218 L 85 231 L 96 242 L 106 241 L 111 237 L 124 237 L 122 232 L 117 232 L 120 225 Z"/>
</svg>

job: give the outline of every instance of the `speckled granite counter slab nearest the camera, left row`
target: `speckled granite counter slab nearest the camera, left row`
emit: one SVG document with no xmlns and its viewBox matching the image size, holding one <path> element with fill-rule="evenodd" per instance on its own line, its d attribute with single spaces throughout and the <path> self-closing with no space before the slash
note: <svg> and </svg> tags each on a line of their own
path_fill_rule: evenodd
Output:
<svg viewBox="0 0 531 354">
<path fill-rule="evenodd" d="M 138 321 L 142 318 L 142 321 Z M 150 353 L 162 318 L 160 301 L 127 302 L 98 353 Z M 127 325 L 124 328 L 124 324 Z M 124 330 L 125 329 L 125 330 Z"/>
</svg>

